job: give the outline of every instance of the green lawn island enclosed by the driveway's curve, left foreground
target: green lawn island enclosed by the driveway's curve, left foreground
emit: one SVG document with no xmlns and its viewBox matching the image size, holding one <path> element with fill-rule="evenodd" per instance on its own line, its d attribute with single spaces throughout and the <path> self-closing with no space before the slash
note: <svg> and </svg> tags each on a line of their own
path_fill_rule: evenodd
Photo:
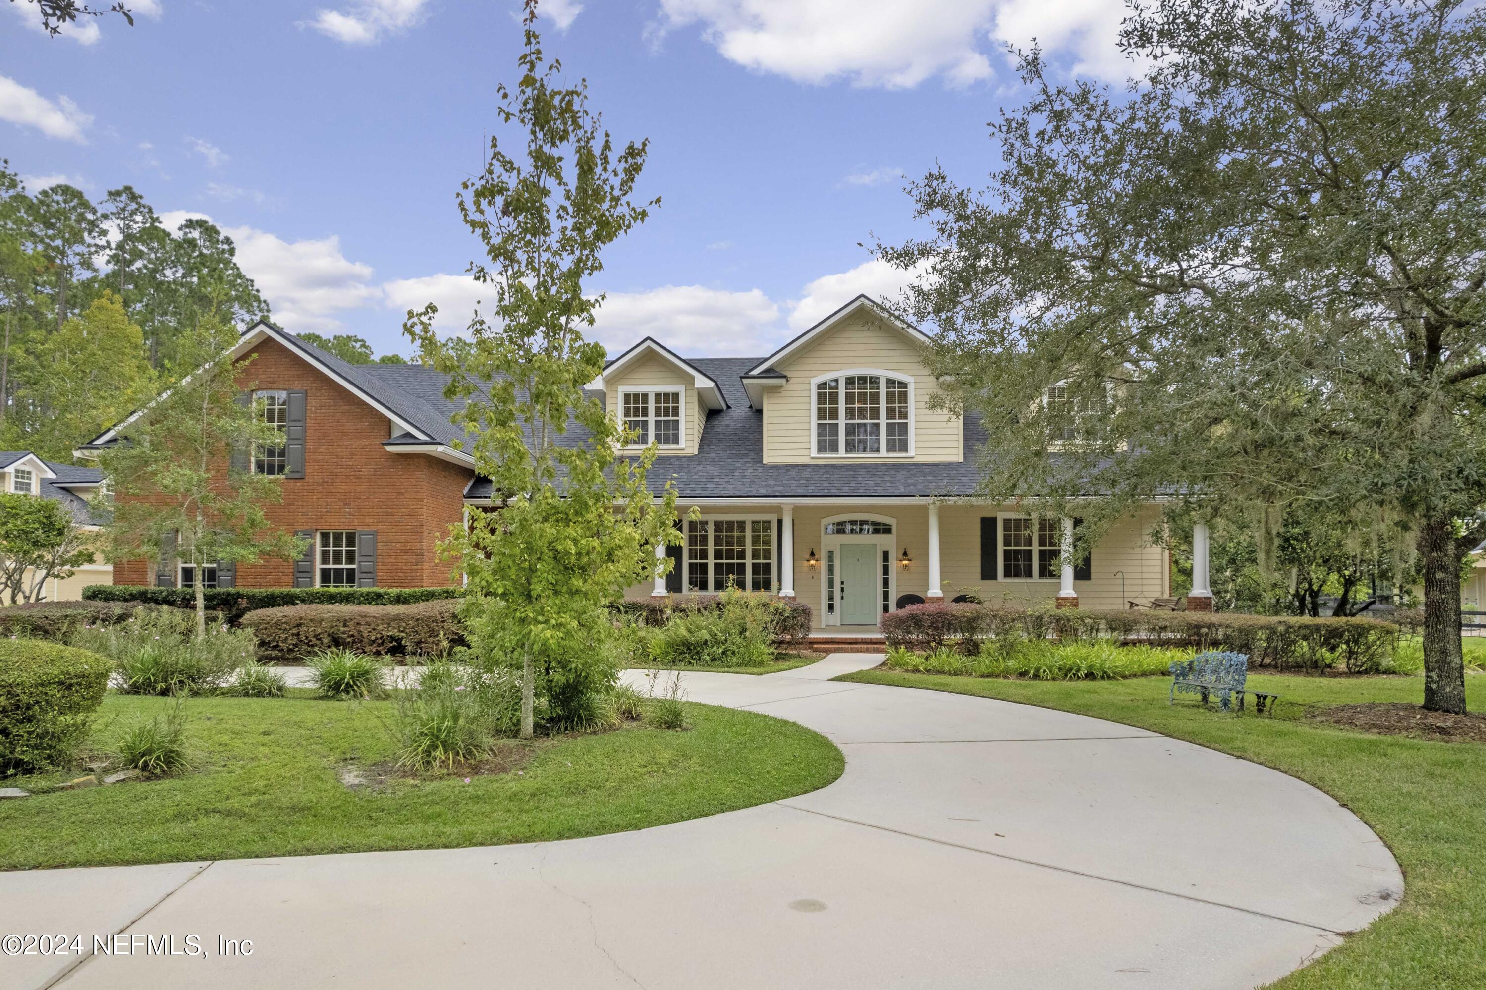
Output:
<svg viewBox="0 0 1486 990">
<path fill-rule="evenodd" d="M 108 694 L 100 749 L 171 699 Z M 299 856 L 550 841 L 664 825 L 822 788 L 841 752 L 794 722 L 687 705 L 688 731 L 630 725 L 535 743 L 514 771 L 391 777 L 352 791 L 337 770 L 394 760 L 391 702 L 192 699 L 180 777 L 0 803 L 0 868 Z M 24 777 L 34 789 L 74 774 Z"/>
</svg>

